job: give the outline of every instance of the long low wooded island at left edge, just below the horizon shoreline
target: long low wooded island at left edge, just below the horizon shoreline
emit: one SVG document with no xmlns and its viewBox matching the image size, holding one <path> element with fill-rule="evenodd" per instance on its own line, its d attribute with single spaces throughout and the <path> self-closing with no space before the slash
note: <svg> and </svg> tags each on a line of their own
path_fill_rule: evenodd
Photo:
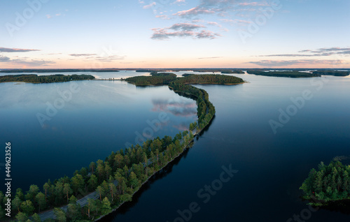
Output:
<svg viewBox="0 0 350 222">
<path fill-rule="evenodd" d="M 76 80 L 93 80 L 92 75 L 3 75 L 0 76 L 0 82 L 31 82 L 31 83 L 50 83 L 50 82 L 69 82 Z"/>
</svg>

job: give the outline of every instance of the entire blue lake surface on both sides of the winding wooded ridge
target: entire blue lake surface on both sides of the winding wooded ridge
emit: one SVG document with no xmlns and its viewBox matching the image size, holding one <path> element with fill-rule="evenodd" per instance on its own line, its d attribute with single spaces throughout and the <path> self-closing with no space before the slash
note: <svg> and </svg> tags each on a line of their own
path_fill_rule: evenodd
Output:
<svg viewBox="0 0 350 222">
<path fill-rule="evenodd" d="M 303 221 L 349 221 L 341 212 L 311 212 L 299 187 L 321 161 L 350 156 L 350 78 L 235 76 L 248 83 L 196 86 L 216 107 L 209 128 L 167 172 L 104 221 L 186 221 L 181 214 L 190 221 L 288 221 L 294 215 Z M 45 103 L 59 98 L 56 87 L 68 90 L 70 82 L 0 85 L 1 142 L 13 144 L 17 184 L 28 187 L 71 175 L 125 147 L 135 131 L 148 127 L 146 120 L 158 119 L 164 110 L 169 123 L 155 135 L 174 135 L 195 119 L 195 102 L 167 87 L 76 83 L 80 91 L 44 127 L 36 113 L 45 113 Z M 283 123 L 281 112 L 287 115 Z M 271 120 L 283 127 L 273 130 Z M 230 167 L 238 172 L 218 182 L 223 168 Z M 216 190 L 210 194 L 207 185 Z"/>
</svg>

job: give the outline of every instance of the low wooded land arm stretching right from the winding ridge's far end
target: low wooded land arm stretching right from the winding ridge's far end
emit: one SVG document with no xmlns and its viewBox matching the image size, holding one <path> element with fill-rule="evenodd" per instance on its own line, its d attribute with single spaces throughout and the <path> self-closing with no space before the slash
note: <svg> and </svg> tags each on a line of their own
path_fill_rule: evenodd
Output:
<svg viewBox="0 0 350 222">
<path fill-rule="evenodd" d="M 230 75 L 204 74 L 177 78 L 176 82 L 181 82 L 183 84 L 239 84 L 243 83 L 244 80 Z"/>
</svg>

